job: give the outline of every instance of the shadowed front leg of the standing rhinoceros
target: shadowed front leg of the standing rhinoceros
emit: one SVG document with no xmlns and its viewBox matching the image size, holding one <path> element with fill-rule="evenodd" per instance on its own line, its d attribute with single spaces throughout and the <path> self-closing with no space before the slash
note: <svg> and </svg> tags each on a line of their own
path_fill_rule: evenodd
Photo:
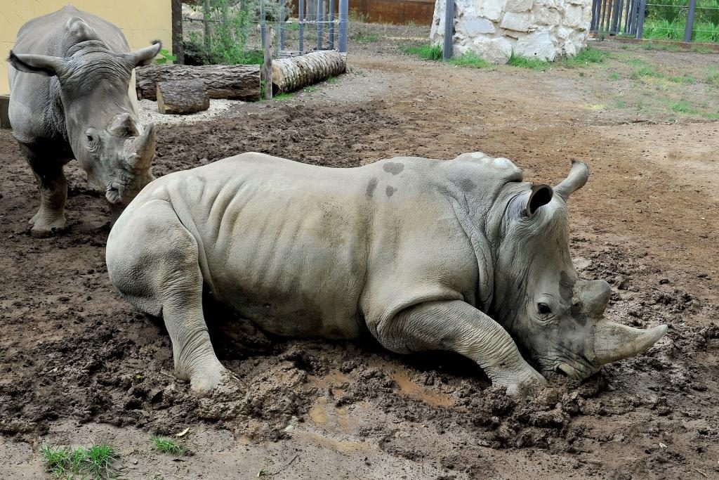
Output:
<svg viewBox="0 0 719 480">
<path fill-rule="evenodd" d="M 32 173 L 35 173 L 37 189 L 40 190 L 40 209 L 30 219 L 34 237 L 50 237 L 63 232 L 65 201 L 68 199 L 68 181 L 63 173 L 63 160 L 47 158 L 47 152 L 38 152 L 28 145 L 20 144 Z"/>
</svg>

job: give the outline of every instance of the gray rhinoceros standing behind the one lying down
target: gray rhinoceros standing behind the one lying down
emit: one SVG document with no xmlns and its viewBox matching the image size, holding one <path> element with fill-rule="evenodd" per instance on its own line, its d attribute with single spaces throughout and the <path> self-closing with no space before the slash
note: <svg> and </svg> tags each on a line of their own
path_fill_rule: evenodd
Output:
<svg viewBox="0 0 719 480">
<path fill-rule="evenodd" d="M 117 27 L 70 5 L 19 30 L 8 58 L 9 116 L 40 189 L 33 235 L 65 230 L 63 166 L 73 158 L 117 214 L 152 181 L 155 130 L 138 122 L 134 68 L 160 47 L 130 53 Z"/>
</svg>

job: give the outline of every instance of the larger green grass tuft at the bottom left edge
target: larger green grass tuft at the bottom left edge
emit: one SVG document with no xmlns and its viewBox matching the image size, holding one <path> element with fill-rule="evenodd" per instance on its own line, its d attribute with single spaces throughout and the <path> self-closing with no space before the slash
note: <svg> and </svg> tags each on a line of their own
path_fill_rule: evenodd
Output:
<svg viewBox="0 0 719 480">
<path fill-rule="evenodd" d="M 119 458 L 115 449 L 104 443 L 89 448 L 45 444 L 40 448 L 40 455 L 45 471 L 55 479 L 73 478 L 74 475 L 93 480 L 109 479 L 115 474 L 113 464 Z"/>
</svg>

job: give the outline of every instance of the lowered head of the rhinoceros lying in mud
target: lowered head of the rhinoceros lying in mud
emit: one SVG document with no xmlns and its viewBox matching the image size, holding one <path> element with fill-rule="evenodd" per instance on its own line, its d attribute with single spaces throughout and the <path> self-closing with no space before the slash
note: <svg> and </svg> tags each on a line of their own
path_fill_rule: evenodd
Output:
<svg viewBox="0 0 719 480">
<path fill-rule="evenodd" d="M 609 284 L 577 276 L 566 202 L 588 176 L 585 163 L 572 162 L 554 189 L 540 185 L 513 194 L 503 217 L 493 315 L 545 376 L 585 379 L 605 363 L 643 352 L 667 331 L 666 325 L 639 330 L 605 319 Z"/>
</svg>

